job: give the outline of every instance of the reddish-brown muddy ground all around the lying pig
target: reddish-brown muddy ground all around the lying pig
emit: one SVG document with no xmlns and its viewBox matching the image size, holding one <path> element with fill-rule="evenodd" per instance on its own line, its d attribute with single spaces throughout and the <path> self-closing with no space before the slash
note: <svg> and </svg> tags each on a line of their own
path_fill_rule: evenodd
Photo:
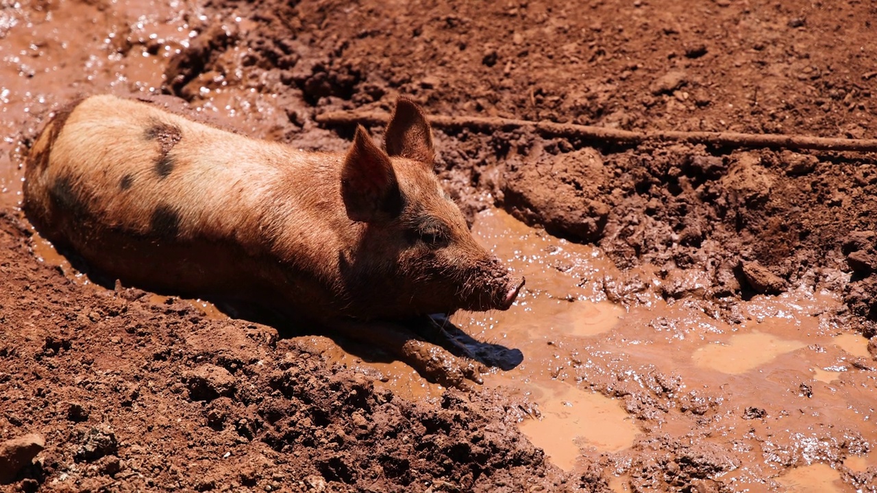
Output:
<svg viewBox="0 0 877 493">
<path fill-rule="evenodd" d="M 437 131 L 446 188 L 527 277 L 510 311 L 438 321 L 494 363 L 469 392 L 96 286 L 18 210 L 40 125 L 102 92 L 333 151 L 352 129 L 317 114 L 397 95 L 873 139 L 875 23 L 803 0 L 0 5 L 0 442 L 45 439 L 0 489 L 877 491 L 874 154 Z"/>
</svg>

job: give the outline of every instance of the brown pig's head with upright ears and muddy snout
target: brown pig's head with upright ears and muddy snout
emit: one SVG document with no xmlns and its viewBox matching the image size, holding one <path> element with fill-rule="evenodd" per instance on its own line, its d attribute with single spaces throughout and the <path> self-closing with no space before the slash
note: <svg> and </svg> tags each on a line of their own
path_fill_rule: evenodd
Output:
<svg viewBox="0 0 877 493">
<path fill-rule="evenodd" d="M 399 99 L 384 146 L 360 126 L 342 168 L 347 217 L 362 232 L 345 276 L 353 297 L 375 316 L 508 310 L 524 279 L 478 244 L 442 189 L 417 104 Z"/>
</svg>

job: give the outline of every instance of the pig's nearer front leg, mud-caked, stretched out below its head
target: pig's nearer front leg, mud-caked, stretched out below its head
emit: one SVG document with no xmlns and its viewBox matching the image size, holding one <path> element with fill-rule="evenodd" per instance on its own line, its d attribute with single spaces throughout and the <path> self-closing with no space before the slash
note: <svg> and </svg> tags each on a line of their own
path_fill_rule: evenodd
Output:
<svg viewBox="0 0 877 493">
<path fill-rule="evenodd" d="M 454 356 L 444 348 L 420 339 L 402 325 L 350 320 L 335 321 L 332 329 L 348 339 L 384 349 L 430 382 L 458 389 L 466 389 L 467 380 L 483 383 L 480 364 Z"/>
</svg>

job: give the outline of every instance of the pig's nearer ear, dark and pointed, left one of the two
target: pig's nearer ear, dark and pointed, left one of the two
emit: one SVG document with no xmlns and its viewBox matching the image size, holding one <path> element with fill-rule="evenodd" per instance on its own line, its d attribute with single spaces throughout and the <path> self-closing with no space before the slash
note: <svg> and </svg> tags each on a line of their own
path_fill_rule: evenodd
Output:
<svg viewBox="0 0 877 493">
<path fill-rule="evenodd" d="M 380 222 L 398 216 L 402 195 L 389 156 L 374 145 L 362 125 L 356 127 L 353 145 L 341 170 L 341 196 L 347 217 Z"/>
</svg>

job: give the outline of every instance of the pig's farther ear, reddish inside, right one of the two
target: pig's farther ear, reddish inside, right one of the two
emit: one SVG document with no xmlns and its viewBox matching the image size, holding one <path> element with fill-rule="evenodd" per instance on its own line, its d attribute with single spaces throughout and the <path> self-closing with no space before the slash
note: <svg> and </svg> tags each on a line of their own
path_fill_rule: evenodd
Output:
<svg viewBox="0 0 877 493">
<path fill-rule="evenodd" d="M 435 158 L 432 130 L 420 106 L 405 97 L 396 101 L 396 110 L 387 125 L 384 146 L 391 156 L 421 161 L 432 168 Z"/>
</svg>

